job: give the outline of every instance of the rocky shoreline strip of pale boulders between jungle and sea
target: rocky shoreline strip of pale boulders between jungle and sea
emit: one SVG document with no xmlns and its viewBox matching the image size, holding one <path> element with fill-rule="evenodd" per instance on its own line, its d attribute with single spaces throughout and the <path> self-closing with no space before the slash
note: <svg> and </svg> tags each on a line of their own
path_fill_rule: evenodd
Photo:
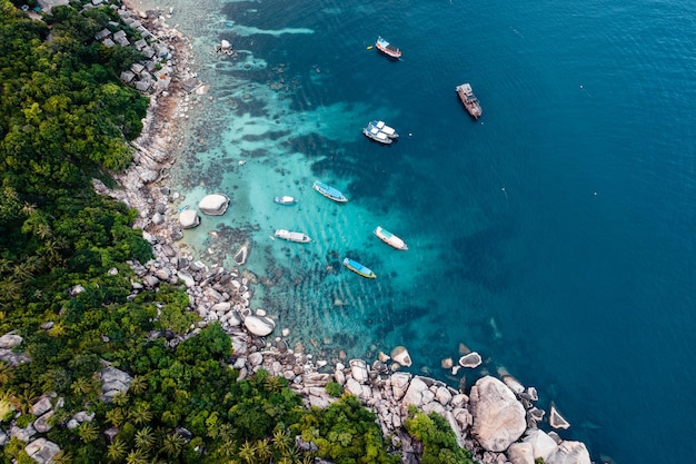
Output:
<svg viewBox="0 0 696 464">
<path fill-rule="evenodd" d="M 125 4 L 139 14 L 131 3 Z M 203 98 L 202 91 L 193 93 L 195 98 L 191 92 L 196 88 L 205 90 L 205 86 L 197 82 L 191 70 L 190 41 L 176 28 L 170 28 L 160 13 L 150 18 L 152 13 L 148 12 L 147 19 L 139 16 L 156 37 L 175 50 L 171 83 L 151 98 L 142 135 L 133 144 L 137 149 L 133 164 L 125 174 L 116 176 L 122 189 L 109 191 L 140 213 L 135 227 L 143 230 L 156 256 L 150 263 L 133 266 L 141 279 L 133 285 L 133 290 L 155 288 L 163 280 L 183 280 L 190 308 L 201 316 L 200 326 L 218 320 L 230 335 L 237 354 L 232 367 L 240 371 L 240 378 L 265 368 L 272 375 L 287 378 L 306 404 L 315 406 L 326 406 L 331 401 L 324 386 L 331 381 L 341 384 L 346 392 L 377 413 L 384 435 L 391 435 L 400 443 L 404 462 L 412 455 L 414 444 L 402 433 L 401 424 L 408 406 L 415 405 L 426 413 L 444 415 L 457 433 L 459 444 L 471 450 L 474 457 L 483 463 L 531 463 L 537 456 L 551 464 L 589 463 L 584 444 L 563 441 L 554 432 L 547 434 L 537 428 L 535 417 L 541 418 L 543 412 L 534 407 L 530 389 L 521 387 L 509 375 L 501 375 L 503 381 L 509 381 L 505 383 L 484 377 L 466 395 L 440 381 L 399 372 L 398 363 L 391 361 L 387 365 L 390 356 L 385 355 L 371 365 L 362 359 L 351 359 L 348 366 L 340 363 L 330 366 L 324 359 L 315 361 L 310 354 L 291 349 L 286 340 L 289 334 L 285 330 L 282 337 L 267 340 L 266 337 L 276 329 L 275 323 L 262 310 L 253 312 L 249 304 L 258 277 L 238 268 L 225 269 L 196 261 L 178 243 L 181 231 L 173 206 L 178 196 L 166 186 L 166 179 L 169 167 L 176 162 L 172 148 L 185 142 L 183 131 L 177 130 L 178 125 Z M 268 328 L 270 330 L 266 334 Z M 196 333 L 197 329 L 190 335 Z M 181 339 L 170 343 L 176 345 Z M 500 422 L 500 417 L 494 417 L 494 411 L 498 411 L 498 407 L 494 409 L 495 404 L 500 411 L 509 409 L 511 415 L 506 417 L 513 417 L 513 427 L 509 421 Z"/>
</svg>

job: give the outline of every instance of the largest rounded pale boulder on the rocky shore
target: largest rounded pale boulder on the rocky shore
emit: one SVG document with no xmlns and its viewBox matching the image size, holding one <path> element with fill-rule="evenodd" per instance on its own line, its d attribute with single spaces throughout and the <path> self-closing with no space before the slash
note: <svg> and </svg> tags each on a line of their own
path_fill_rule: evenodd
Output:
<svg viewBox="0 0 696 464">
<path fill-rule="evenodd" d="M 479 378 L 471 387 L 469 399 L 474 416 L 471 432 L 486 451 L 504 452 L 527 428 L 525 408 L 497 378 Z"/>
</svg>

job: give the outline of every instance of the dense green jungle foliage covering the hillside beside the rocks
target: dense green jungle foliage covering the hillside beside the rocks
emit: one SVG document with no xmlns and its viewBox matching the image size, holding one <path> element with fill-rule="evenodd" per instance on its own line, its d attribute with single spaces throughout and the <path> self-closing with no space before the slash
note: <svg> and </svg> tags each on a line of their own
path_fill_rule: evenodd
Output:
<svg viewBox="0 0 696 464">
<path fill-rule="evenodd" d="M 64 403 L 34 438 L 58 444 L 60 463 L 400 462 L 376 416 L 339 385 L 330 407 L 307 409 L 282 377 L 239 381 L 219 325 L 173 349 L 149 336 L 197 318 L 182 287 L 127 298 L 127 260 L 146 263 L 151 250 L 131 228 L 137 211 L 91 188 L 129 165 L 128 141 L 142 129 L 148 99 L 118 80 L 138 53 L 93 40 L 120 21 L 108 7 L 72 2 L 42 20 L 18 7 L 0 0 L 0 335 L 21 335 L 17 352 L 31 361 L 0 362 L 0 428 L 28 426 L 31 405 L 54 393 L 53 405 Z M 106 363 L 133 377 L 109 403 L 99 399 Z M 93 419 L 67 427 L 81 411 Z M 447 424 L 428 417 L 414 412 L 407 424 L 424 462 L 470 462 Z M 11 438 L 0 462 L 32 463 L 24 446 Z"/>
</svg>

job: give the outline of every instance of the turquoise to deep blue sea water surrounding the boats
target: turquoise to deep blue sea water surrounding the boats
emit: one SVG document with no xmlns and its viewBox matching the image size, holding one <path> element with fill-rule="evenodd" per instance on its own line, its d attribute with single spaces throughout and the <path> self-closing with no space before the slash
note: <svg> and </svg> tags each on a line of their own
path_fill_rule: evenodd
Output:
<svg viewBox="0 0 696 464">
<path fill-rule="evenodd" d="M 689 461 L 696 6 L 170 4 L 212 97 L 173 187 L 190 205 L 232 198 L 186 241 L 228 266 L 251 244 L 253 306 L 291 343 L 329 359 L 405 345 L 412 372 L 454 385 L 461 373 L 440 359 L 463 343 L 486 358 L 468 384 L 504 367 L 537 386 L 573 424 L 561 436 L 596 460 Z M 401 61 L 367 48 L 378 34 Z M 237 58 L 212 53 L 221 39 Z M 480 121 L 456 98 L 463 82 Z M 401 139 L 368 141 L 376 118 Z M 409 250 L 380 243 L 377 225 Z M 314 241 L 272 240 L 276 228 Z"/>
</svg>

